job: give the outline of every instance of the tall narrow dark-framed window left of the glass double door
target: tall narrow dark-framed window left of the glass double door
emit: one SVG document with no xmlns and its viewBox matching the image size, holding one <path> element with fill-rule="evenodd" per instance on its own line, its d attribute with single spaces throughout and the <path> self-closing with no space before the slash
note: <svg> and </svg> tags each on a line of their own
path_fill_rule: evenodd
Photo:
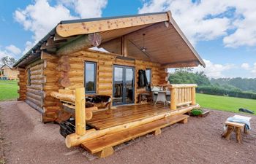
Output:
<svg viewBox="0 0 256 164">
<path fill-rule="evenodd" d="M 86 93 L 96 93 L 96 63 L 86 61 L 84 64 Z"/>
</svg>

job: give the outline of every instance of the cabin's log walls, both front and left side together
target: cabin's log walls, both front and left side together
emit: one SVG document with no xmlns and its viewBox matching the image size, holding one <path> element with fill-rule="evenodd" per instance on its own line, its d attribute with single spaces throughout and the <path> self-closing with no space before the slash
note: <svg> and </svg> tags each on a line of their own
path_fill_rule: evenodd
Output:
<svg viewBox="0 0 256 164">
<path fill-rule="evenodd" d="M 118 58 L 117 58 L 118 57 Z M 135 103 L 138 103 L 140 93 L 146 93 L 146 88 L 139 88 L 138 71 L 151 69 L 151 85 L 167 84 L 167 73 L 159 63 L 143 60 L 125 60 L 120 55 L 104 52 L 80 51 L 58 57 L 42 52 L 41 60 L 30 64 L 26 69 L 20 69 L 19 100 L 42 113 L 42 122 L 61 121 L 62 105 L 56 98 L 50 96 L 59 89 L 75 90 L 84 86 L 84 62 L 97 63 L 97 94 L 113 96 L 113 65 L 132 66 L 135 68 Z M 28 70 L 31 71 L 31 85 L 28 85 Z M 65 115 L 65 114 L 64 114 Z"/>
</svg>

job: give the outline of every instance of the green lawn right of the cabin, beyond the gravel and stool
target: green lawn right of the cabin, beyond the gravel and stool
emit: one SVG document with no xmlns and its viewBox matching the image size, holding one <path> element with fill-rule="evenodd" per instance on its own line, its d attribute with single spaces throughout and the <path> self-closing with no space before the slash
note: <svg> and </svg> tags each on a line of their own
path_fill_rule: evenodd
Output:
<svg viewBox="0 0 256 164">
<path fill-rule="evenodd" d="M 197 93 L 196 96 L 197 104 L 200 104 L 203 108 L 229 112 L 238 112 L 239 108 L 245 108 L 254 111 L 256 114 L 256 100 L 200 93 Z"/>
</svg>

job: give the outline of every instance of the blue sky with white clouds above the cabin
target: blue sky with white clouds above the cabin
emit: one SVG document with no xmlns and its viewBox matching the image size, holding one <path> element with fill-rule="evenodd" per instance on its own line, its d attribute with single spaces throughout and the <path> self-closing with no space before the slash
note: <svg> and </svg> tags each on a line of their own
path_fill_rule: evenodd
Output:
<svg viewBox="0 0 256 164">
<path fill-rule="evenodd" d="M 255 0 L 1 0 L 0 58 L 20 58 L 61 20 L 170 10 L 211 78 L 256 77 Z"/>
</svg>

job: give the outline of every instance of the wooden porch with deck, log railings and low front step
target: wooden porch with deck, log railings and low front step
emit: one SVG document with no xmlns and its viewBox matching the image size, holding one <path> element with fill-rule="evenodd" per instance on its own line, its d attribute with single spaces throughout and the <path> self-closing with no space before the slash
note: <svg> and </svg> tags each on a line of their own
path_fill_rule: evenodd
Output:
<svg viewBox="0 0 256 164">
<path fill-rule="evenodd" d="M 185 113 L 200 106 L 195 103 L 197 85 L 168 85 L 170 105 L 135 104 L 116 106 L 102 111 L 85 109 L 84 88 L 53 92 L 64 106 L 75 109 L 75 133 L 66 137 L 66 146 L 81 145 L 99 157 L 113 154 L 113 147 L 138 136 L 161 133 L 161 128 L 176 122 L 186 123 Z M 64 94 L 66 93 L 66 94 Z M 69 93 L 69 94 L 67 94 Z M 69 105 L 67 105 L 69 102 Z M 86 114 L 91 113 L 91 117 Z M 86 125 L 92 128 L 86 130 Z"/>
</svg>

